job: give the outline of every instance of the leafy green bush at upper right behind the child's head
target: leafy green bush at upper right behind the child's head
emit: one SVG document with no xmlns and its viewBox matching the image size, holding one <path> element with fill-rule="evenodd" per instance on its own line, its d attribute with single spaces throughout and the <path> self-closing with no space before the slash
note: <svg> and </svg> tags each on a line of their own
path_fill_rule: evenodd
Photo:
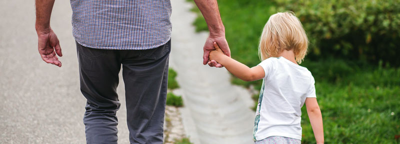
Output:
<svg viewBox="0 0 400 144">
<path fill-rule="evenodd" d="M 273 0 L 291 10 L 310 40 L 312 57 L 400 65 L 400 0 Z"/>
</svg>

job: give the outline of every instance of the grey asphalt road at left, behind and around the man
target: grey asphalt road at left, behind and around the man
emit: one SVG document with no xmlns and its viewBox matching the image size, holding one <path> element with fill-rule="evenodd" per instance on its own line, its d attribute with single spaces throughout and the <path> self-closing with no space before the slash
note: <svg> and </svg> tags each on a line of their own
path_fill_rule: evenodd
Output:
<svg viewBox="0 0 400 144">
<path fill-rule="evenodd" d="M 0 0 L 0 143 L 85 143 L 85 98 L 79 91 L 69 0 L 55 0 L 51 27 L 61 67 L 37 52 L 34 0 Z M 118 94 L 124 102 L 123 81 Z M 125 105 L 117 112 L 118 143 L 129 143 Z"/>
</svg>

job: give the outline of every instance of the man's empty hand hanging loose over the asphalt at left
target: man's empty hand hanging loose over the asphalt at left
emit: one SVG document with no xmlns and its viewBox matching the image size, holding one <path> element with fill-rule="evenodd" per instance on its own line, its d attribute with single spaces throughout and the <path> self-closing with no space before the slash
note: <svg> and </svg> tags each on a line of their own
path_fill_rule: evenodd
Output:
<svg viewBox="0 0 400 144">
<path fill-rule="evenodd" d="M 43 31 L 37 31 L 39 54 L 41 59 L 47 63 L 51 63 L 61 67 L 61 61 L 58 60 L 58 56 L 62 56 L 61 47 L 57 35 L 51 28 Z"/>
</svg>

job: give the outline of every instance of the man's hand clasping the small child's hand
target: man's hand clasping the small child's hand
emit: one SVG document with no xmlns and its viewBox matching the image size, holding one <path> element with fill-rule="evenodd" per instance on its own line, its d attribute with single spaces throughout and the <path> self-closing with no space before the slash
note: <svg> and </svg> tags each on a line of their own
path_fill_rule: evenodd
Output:
<svg viewBox="0 0 400 144">
<path fill-rule="evenodd" d="M 221 51 L 223 52 L 223 54 L 227 55 L 230 57 L 230 50 L 229 50 L 229 45 L 225 39 L 224 35 L 221 36 L 208 36 L 208 38 L 205 40 L 204 43 L 204 54 L 203 54 L 203 64 L 207 64 L 209 66 L 215 66 L 215 67 L 223 67 L 220 63 L 217 63 L 214 59 L 210 59 L 209 53 L 212 50 L 215 50 L 214 48 L 214 42 L 217 42 L 221 47 Z"/>
</svg>

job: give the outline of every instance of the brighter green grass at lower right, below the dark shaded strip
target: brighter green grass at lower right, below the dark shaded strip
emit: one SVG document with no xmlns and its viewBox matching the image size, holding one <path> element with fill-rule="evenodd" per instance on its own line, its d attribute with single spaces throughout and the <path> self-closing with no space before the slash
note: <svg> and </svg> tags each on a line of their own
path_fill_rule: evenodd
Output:
<svg viewBox="0 0 400 144">
<path fill-rule="evenodd" d="M 399 86 L 317 82 L 315 88 L 326 143 L 396 143 Z M 302 143 L 315 143 L 305 106 L 301 110 Z"/>
</svg>

